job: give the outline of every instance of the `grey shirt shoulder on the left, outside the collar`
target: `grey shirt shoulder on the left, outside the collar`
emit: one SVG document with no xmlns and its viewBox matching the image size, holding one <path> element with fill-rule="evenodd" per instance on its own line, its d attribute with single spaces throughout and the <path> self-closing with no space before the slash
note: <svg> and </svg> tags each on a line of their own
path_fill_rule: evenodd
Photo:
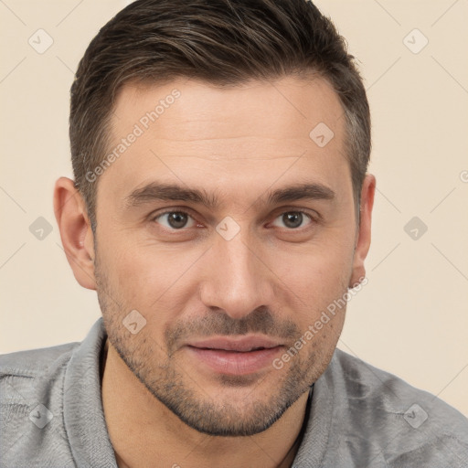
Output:
<svg viewBox="0 0 468 468">
<path fill-rule="evenodd" d="M 2 466 L 72 466 L 62 423 L 64 378 L 79 343 L 0 356 Z M 58 453 L 58 454 L 57 454 Z"/>
</svg>

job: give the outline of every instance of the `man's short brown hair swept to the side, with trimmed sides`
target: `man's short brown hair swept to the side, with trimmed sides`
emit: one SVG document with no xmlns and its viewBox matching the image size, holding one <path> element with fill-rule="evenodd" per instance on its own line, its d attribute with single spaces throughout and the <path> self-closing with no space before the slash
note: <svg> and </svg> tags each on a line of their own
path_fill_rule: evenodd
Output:
<svg viewBox="0 0 468 468">
<path fill-rule="evenodd" d="M 366 90 L 345 39 L 311 1 L 137 0 L 125 7 L 92 39 L 71 86 L 71 161 L 91 228 L 97 183 L 86 175 L 108 151 L 124 83 L 186 77 L 235 86 L 310 71 L 331 83 L 343 105 L 358 206 L 371 148 Z"/>
</svg>

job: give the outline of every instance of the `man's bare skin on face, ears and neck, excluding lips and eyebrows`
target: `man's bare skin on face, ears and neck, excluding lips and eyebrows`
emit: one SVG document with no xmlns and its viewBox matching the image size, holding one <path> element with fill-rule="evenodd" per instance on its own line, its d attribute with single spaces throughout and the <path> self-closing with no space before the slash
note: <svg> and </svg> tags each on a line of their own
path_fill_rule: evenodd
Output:
<svg viewBox="0 0 468 468">
<path fill-rule="evenodd" d="M 376 180 L 366 176 L 357 225 L 343 109 L 319 78 L 226 89 L 127 84 L 114 108 L 115 144 L 174 89 L 180 98 L 95 182 L 95 237 L 72 181 L 55 187 L 69 264 L 97 291 L 109 335 L 102 400 L 116 459 L 121 468 L 291 466 L 309 386 L 333 356 L 346 307 L 281 369 L 226 376 L 185 345 L 262 333 L 281 343 L 281 357 L 365 276 Z M 318 122 L 335 133 L 322 148 L 309 137 Z M 220 204 L 125 205 L 156 179 L 203 188 Z M 310 182 L 335 197 L 266 203 L 273 189 Z M 155 218 L 163 208 L 186 211 L 186 226 Z M 284 214 L 297 211 L 314 218 L 292 228 Z M 240 229 L 230 240 L 216 230 L 228 216 Z M 134 335 L 122 324 L 132 310 L 146 320 Z"/>
</svg>

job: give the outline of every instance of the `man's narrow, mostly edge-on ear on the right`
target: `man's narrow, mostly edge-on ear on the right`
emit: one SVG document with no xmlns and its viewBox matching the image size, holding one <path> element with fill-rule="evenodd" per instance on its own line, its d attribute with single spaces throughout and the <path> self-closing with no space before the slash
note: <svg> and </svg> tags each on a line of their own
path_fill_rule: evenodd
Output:
<svg viewBox="0 0 468 468">
<path fill-rule="evenodd" d="M 353 259 L 353 272 L 349 281 L 349 288 L 353 288 L 366 276 L 364 261 L 370 247 L 370 230 L 372 207 L 374 207 L 374 195 L 376 192 L 376 177 L 367 174 L 361 189 L 360 221 L 356 235 L 355 255 Z"/>
</svg>

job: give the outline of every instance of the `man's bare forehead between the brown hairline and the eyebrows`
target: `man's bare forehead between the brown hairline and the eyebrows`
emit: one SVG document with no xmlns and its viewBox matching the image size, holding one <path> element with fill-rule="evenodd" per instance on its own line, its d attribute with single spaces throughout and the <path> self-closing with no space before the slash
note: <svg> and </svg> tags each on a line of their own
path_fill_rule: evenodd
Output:
<svg viewBox="0 0 468 468">
<path fill-rule="evenodd" d="M 229 88 L 187 79 L 125 85 L 99 192 L 122 202 L 152 179 L 207 191 L 239 191 L 240 183 L 265 189 L 308 173 L 339 185 L 340 176 L 349 177 L 344 124 L 335 90 L 317 77 Z"/>
</svg>

